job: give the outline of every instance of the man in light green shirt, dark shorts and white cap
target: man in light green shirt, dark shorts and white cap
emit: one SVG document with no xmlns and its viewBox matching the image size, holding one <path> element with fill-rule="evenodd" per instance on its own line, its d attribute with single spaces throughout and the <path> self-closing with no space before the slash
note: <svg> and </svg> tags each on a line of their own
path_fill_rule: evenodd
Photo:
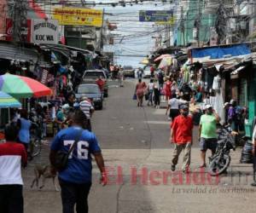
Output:
<svg viewBox="0 0 256 213">
<path fill-rule="evenodd" d="M 212 151 L 212 155 L 216 151 L 217 147 L 217 123 L 220 121 L 218 114 L 212 109 L 212 105 L 207 105 L 206 114 L 201 116 L 199 124 L 199 138 L 201 148 L 201 160 L 202 164 L 200 168 L 207 166 L 206 154 L 207 149 Z"/>
</svg>

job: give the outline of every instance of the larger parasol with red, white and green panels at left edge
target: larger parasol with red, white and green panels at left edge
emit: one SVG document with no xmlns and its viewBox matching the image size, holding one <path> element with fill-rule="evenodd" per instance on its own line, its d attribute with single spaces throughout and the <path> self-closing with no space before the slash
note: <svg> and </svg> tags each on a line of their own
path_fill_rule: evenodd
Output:
<svg viewBox="0 0 256 213">
<path fill-rule="evenodd" d="M 31 98 L 51 95 L 51 89 L 43 83 L 9 73 L 0 76 L 0 90 L 15 98 Z"/>
</svg>

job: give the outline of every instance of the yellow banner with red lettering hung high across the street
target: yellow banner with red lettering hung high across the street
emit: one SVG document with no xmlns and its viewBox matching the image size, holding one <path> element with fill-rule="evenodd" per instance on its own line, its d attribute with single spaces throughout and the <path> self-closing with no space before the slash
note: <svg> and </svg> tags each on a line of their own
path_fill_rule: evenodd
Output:
<svg viewBox="0 0 256 213">
<path fill-rule="evenodd" d="M 103 11 L 100 9 L 55 8 L 53 18 L 60 25 L 102 27 Z"/>
</svg>

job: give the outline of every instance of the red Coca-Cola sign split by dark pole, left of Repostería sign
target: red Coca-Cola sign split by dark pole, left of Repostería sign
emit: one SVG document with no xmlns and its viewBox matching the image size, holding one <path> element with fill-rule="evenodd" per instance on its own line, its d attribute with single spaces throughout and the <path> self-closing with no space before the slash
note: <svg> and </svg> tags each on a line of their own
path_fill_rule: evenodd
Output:
<svg viewBox="0 0 256 213">
<path fill-rule="evenodd" d="M 7 41 L 13 41 L 13 20 L 12 19 L 6 19 L 6 40 Z M 20 40 L 30 43 L 31 42 L 31 27 L 32 27 L 32 20 L 26 20 L 26 23 L 21 26 L 21 37 Z"/>
</svg>

